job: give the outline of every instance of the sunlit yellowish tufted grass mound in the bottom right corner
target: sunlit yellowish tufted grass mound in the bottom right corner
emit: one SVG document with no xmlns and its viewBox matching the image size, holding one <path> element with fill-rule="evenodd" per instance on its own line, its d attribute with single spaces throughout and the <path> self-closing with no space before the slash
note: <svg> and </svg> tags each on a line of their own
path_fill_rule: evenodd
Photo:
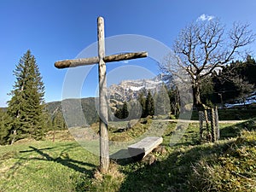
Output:
<svg viewBox="0 0 256 192">
<path fill-rule="evenodd" d="M 192 166 L 189 189 L 195 191 L 255 191 L 256 132 L 217 143 L 212 154 Z"/>
</svg>

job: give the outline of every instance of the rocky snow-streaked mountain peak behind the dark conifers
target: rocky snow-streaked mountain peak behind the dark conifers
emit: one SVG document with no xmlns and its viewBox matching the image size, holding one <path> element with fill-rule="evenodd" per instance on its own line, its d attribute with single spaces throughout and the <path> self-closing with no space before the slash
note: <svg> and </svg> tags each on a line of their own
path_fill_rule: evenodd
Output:
<svg viewBox="0 0 256 192">
<path fill-rule="evenodd" d="M 154 94 L 155 91 L 160 89 L 162 83 L 160 76 L 154 79 L 124 80 L 119 84 L 112 84 L 108 88 L 108 96 L 110 96 L 110 99 L 128 102 L 136 99 L 142 91 L 148 92 L 150 90 Z"/>
</svg>

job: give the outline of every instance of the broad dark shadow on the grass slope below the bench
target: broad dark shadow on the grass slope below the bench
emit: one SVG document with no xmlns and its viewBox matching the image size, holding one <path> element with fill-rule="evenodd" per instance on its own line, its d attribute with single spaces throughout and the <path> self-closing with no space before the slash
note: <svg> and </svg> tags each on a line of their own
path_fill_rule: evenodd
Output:
<svg viewBox="0 0 256 192">
<path fill-rule="evenodd" d="M 213 156 L 223 154 L 230 144 L 180 148 L 169 154 L 166 160 L 156 161 L 151 166 L 142 162 L 123 166 L 126 178 L 119 191 L 193 191 L 189 189 L 193 165 L 202 158 L 211 160 Z"/>
</svg>

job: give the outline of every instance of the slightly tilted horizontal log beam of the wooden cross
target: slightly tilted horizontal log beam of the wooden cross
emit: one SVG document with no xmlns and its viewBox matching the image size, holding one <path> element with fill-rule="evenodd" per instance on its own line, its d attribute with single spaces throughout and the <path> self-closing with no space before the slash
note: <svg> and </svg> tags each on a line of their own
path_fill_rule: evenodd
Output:
<svg viewBox="0 0 256 192">
<path fill-rule="evenodd" d="M 137 58 L 147 57 L 148 53 L 137 52 L 137 53 L 125 53 L 125 54 L 116 54 L 116 55 L 108 55 L 103 58 L 105 62 L 113 62 L 113 61 L 124 61 L 124 60 L 131 60 Z M 74 60 L 63 60 L 63 61 L 56 61 L 55 67 L 57 68 L 67 68 L 67 67 L 79 67 L 85 65 L 93 65 L 99 62 L 99 57 L 90 57 L 90 58 L 83 58 L 83 59 L 74 59 Z"/>
</svg>

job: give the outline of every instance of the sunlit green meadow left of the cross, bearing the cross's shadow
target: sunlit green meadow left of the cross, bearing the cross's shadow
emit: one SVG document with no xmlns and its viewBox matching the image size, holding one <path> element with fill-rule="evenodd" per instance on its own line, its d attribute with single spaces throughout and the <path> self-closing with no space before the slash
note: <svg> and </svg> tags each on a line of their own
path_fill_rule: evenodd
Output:
<svg viewBox="0 0 256 192">
<path fill-rule="evenodd" d="M 93 177 L 97 161 L 76 142 L 2 146 L 0 191 L 77 191 Z"/>
</svg>

